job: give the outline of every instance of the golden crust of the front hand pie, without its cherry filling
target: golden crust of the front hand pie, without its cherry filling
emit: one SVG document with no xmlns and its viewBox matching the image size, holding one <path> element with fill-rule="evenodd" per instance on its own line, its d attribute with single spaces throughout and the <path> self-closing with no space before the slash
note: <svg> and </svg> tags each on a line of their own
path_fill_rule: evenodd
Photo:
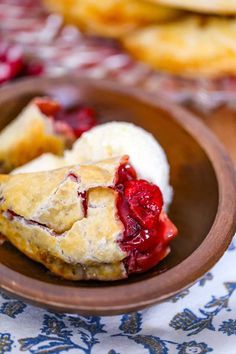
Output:
<svg viewBox="0 0 236 354">
<path fill-rule="evenodd" d="M 126 253 L 117 242 L 123 224 L 117 216 L 116 191 L 110 188 L 126 159 L 0 176 L 0 232 L 20 251 L 67 279 L 126 277 Z"/>
</svg>

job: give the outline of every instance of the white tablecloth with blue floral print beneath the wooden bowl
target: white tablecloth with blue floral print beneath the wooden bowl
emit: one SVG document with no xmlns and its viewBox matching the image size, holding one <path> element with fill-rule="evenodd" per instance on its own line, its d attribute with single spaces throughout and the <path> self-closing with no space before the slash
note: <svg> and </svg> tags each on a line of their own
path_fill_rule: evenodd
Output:
<svg viewBox="0 0 236 354">
<path fill-rule="evenodd" d="M 57 314 L 0 293 L 0 354 L 235 354 L 236 239 L 190 289 L 137 313 Z"/>
</svg>

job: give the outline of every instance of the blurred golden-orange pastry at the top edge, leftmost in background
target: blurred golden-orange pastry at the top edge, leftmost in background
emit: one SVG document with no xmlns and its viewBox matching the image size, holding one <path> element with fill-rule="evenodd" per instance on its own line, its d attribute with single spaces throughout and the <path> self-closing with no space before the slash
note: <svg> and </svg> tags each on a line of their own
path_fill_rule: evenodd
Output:
<svg viewBox="0 0 236 354">
<path fill-rule="evenodd" d="M 146 0 L 45 0 L 45 6 L 62 14 L 88 33 L 120 37 L 152 23 L 179 16 L 179 10 Z"/>
</svg>

